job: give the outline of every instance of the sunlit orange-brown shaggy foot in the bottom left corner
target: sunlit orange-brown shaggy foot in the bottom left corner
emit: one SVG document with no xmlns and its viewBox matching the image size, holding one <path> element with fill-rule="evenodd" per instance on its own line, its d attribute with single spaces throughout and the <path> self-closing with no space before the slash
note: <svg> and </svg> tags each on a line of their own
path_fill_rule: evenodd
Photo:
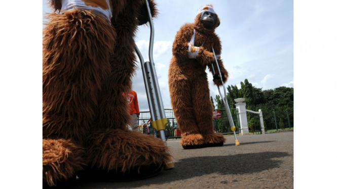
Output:
<svg viewBox="0 0 337 189">
<path fill-rule="evenodd" d="M 70 183 L 82 170 L 84 150 L 68 139 L 43 139 L 43 182 L 49 186 Z"/>
</svg>

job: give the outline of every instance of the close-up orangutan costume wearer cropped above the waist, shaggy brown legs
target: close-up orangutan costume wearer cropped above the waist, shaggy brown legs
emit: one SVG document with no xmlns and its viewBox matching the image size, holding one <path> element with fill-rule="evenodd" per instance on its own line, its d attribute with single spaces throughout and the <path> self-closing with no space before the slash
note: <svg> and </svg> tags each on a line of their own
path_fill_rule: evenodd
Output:
<svg viewBox="0 0 337 189">
<path fill-rule="evenodd" d="M 135 180 L 171 161 L 161 139 L 130 131 L 142 0 L 50 0 L 43 37 L 43 181 Z M 153 0 L 151 12 L 156 16 Z"/>
</svg>

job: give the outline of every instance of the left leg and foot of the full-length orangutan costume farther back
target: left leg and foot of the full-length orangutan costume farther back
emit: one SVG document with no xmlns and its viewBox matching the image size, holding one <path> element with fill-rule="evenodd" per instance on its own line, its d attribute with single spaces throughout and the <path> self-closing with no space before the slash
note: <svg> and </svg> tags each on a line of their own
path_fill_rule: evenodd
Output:
<svg viewBox="0 0 337 189">
<path fill-rule="evenodd" d="M 169 89 L 173 113 L 181 130 L 180 145 L 199 146 L 204 143 L 204 140 L 193 110 L 192 78 L 174 70 L 177 68 L 174 64 L 175 62 L 171 62 L 169 69 Z"/>
</svg>

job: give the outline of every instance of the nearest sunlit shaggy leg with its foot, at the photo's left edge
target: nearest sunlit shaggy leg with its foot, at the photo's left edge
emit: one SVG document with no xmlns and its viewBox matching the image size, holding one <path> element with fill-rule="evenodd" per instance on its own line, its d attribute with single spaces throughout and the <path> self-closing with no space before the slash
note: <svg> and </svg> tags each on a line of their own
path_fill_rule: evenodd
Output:
<svg viewBox="0 0 337 189">
<path fill-rule="evenodd" d="M 83 142 L 110 68 L 113 32 L 104 17 L 88 11 L 49 15 L 43 39 L 43 178 L 49 185 L 76 176 L 85 163 Z"/>
</svg>

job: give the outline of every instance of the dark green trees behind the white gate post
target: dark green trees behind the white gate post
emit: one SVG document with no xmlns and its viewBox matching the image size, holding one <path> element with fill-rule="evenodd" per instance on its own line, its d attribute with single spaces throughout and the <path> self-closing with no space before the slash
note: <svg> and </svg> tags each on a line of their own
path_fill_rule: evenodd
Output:
<svg viewBox="0 0 337 189">
<path fill-rule="evenodd" d="M 245 98 L 246 109 L 257 112 L 262 110 L 264 115 L 264 123 L 267 121 L 268 125 L 275 125 L 274 111 L 276 112 L 278 127 L 282 125 L 283 128 L 293 127 L 293 88 L 280 86 L 274 89 L 263 90 L 263 88 L 257 88 L 249 83 L 248 79 L 240 83 L 241 88 L 237 85 L 229 85 L 227 87 L 227 101 L 231 109 L 235 109 L 237 104 L 234 99 Z M 211 97 L 211 101 L 213 98 Z M 216 95 L 214 101 L 217 103 L 217 109 L 224 109 L 224 104 L 220 96 Z M 213 101 L 212 101 L 213 103 Z M 213 104 L 213 107 L 214 104 Z M 223 111 L 226 112 L 226 111 Z M 226 115 L 225 115 L 226 116 Z M 258 120 L 252 120 L 253 114 L 247 114 L 249 120 L 248 126 L 250 130 L 253 130 L 252 124 L 258 124 Z M 224 119 L 217 119 L 216 127 L 224 127 Z M 254 122 L 254 123 L 253 123 Z M 255 123 L 256 122 L 256 123 Z M 290 125 L 289 125 L 290 123 Z M 267 127 L 265 123 L 265 127 Z M 221 129 L 222 131 L 222 129 Z"/>
</svg>

